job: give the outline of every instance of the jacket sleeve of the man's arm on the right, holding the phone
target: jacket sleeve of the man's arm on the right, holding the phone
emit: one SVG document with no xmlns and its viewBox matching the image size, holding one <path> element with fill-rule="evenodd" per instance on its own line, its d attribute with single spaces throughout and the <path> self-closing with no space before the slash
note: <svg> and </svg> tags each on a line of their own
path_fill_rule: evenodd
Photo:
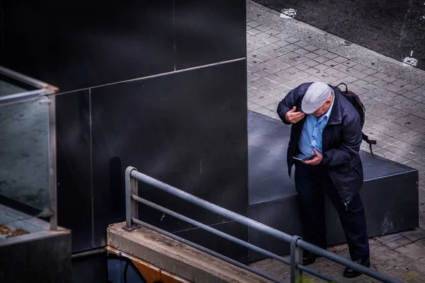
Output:
<svg viewBox="0 0 425 283">
<path fill-rule="evenodd" d="M 349 163 L 358 155 L 361 146 L 361 123 L 358 115 L 353 115 L 341 127 L 341 144 L 336 149 L 325 151 L 320 164 L 340 166 Z"/>
</svg>

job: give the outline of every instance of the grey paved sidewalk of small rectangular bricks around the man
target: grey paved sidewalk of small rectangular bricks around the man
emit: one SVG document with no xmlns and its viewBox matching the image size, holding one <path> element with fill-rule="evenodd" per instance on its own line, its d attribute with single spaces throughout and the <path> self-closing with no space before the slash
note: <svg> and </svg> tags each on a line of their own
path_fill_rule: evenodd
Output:
<svg viewBox="0 0 425 283">
<path fill-rule="evenodd" d="M 348 83 L 365 104 L 363 131 L 378 140 L 374 153 L 419 170 L 420 227 L 371 238 L 372 268 L 402 281 L 425 282 L 425 81 L 412 84 L 388 76 L 341 57 L 324 45 L 310 45 L 302 34 L 294 37 L 273 29 L 261 18 L 246 19 L 248 108 L 279 119 L 278 102 L 300 83 Z M 362 148 L 368 151 L 367 144 Z M 346 245 L 329 250 L 348 258 Z M 271 272 L 283 282 L 289 280 L 288 266 L 276 260 L 261 260 L 252 266 Z M 342 282 L 376 282 L 365 276 L 344 279 L 344 267 L 329 260 L 320 259 L 312 267 Z"/>
</svg>

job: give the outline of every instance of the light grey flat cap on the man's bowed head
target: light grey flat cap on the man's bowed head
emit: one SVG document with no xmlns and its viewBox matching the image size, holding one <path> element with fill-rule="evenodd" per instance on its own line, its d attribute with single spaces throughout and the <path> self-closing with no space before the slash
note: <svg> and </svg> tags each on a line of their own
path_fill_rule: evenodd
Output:
<svg viewBox="0 0 425 283">
<path fill-rule="evenodd" d="M 305 114 L 312 114 L 317 111 L 331 96 L 332 88 L 327 83 L 316 81 L 312 83 L 302 98 L 301 110 Z"/>
</svg>

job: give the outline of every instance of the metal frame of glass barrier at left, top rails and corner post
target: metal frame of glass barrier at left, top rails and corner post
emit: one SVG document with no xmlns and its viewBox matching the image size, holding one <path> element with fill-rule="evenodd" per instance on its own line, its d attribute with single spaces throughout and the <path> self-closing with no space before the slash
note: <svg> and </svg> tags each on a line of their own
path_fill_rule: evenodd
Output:
<svg viewBox="0 0 425 283">
<path fill-rule="evenodd" d="M 34 91 L 24 91 L 8 96 L 0 97 L 0 105 L 20 103 L 23 101 L 40 98 L 40 104 L 47 104 L 48 112 L 48 158 L 49 158 L 49 198 L 50 212 L 42 212 L 42 215 L 50 215 L 50 230 L 57 230 L 57 165 L 56 165 L 56 105 L 55 94 L 59 91 L 56 86 L 52 86 L 43 81 L 33 79 L 30 76 L 20 74 L 11 69 L 0 66 L 0 74 L 8 76 L 16 81 L 21 81 L 29 86 L 38 88 Z M 41 215 L 41 214 L 40 214 Z"/>
</svg>

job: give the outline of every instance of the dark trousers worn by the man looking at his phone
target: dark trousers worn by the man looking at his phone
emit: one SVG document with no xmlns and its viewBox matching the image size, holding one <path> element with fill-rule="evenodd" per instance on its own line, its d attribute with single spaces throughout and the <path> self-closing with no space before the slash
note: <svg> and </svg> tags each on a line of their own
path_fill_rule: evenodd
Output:
<svg viewBox="0 0 425 283">
<path fill-rule="evenodd" d="M 326 192 L 339 214 L 351 259 L 369 258 L 365 210 L 360 195 L 357 194 L 346 208 L 326 168 L 300 162 L 295 164 L 295 187 L 300 202 L 305 241 L 321 248 L 327 246 L 324 219 L 324 193 Z"/>
</svg>

